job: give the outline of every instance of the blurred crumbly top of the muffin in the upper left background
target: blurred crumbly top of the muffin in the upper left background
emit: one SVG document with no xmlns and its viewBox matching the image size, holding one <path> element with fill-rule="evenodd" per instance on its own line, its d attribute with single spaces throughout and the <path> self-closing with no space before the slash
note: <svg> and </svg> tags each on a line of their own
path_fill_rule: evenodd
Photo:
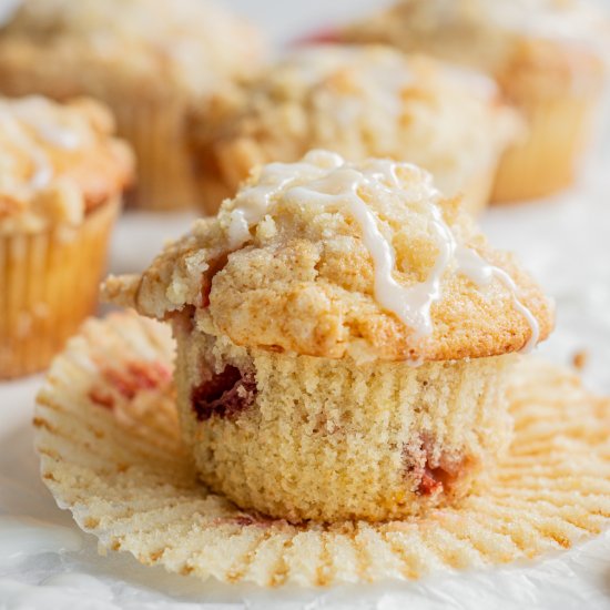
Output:
<svg viewBox="0 0 610 610">
<path fill-rule="evenodd" d="M 252 26 L 207 0 L 21 0 L 0 31 L 0 67 L 34 71 L 58 95 L 202 93 L 262 51 Z"/>
</svg>

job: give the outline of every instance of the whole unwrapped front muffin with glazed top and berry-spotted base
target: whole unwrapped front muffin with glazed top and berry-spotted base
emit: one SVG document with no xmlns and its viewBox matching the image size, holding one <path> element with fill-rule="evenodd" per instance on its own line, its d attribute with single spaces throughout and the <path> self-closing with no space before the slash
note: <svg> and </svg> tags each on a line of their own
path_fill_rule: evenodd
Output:
<svg viewBox="0 0 610 610">
<path fill-rule="evenodd" d="M 242 509 L 379 521 L 457 501 L 510 440 L 552 306 L 415 165 L 272 163 L 105 296 L 170 321 L 185 446 Z"/>
</svg>

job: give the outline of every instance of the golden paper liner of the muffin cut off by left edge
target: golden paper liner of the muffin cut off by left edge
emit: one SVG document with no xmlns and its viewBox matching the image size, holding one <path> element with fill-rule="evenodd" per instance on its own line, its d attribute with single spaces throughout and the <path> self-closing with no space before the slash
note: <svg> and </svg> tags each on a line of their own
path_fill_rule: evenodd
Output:
<svg viewBox="0 0 610 610">
<path fill-rule="evenodd" d="M 94 311 L 119 206 L 78 227 L 0 235 L 0 379 L 45 368 Z"/>
</svg>

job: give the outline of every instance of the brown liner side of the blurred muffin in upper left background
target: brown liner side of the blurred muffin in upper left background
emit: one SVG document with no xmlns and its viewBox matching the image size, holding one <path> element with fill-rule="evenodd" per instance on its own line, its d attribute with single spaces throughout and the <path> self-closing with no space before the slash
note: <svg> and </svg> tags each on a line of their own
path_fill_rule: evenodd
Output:
<svg viewBox="0 0 610 610">
<path fill-rule="evenodd" d="M 197 186 L 185 142 L 185 103 L 110 102 L 119 134 L 128 140 L 138 160 L 138 183 L 128 203 L 153 211 L 192 207 Z"/>
</svg>

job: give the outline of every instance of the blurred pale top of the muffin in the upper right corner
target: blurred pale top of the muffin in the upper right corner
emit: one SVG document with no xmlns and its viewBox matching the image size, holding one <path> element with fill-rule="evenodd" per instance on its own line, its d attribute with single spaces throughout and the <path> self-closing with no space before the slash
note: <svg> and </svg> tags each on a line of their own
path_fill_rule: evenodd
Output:
<svg viewBox="0 0 610 610">
<path fill-rule="evenodd" d="M 401 0 L 339 38 L 429 52 L 497 77 L 541 57 L 563 78 L 596 71 L 592 57 L 610 52 L 608 14 L 590 0 Z"/>
</svg>

